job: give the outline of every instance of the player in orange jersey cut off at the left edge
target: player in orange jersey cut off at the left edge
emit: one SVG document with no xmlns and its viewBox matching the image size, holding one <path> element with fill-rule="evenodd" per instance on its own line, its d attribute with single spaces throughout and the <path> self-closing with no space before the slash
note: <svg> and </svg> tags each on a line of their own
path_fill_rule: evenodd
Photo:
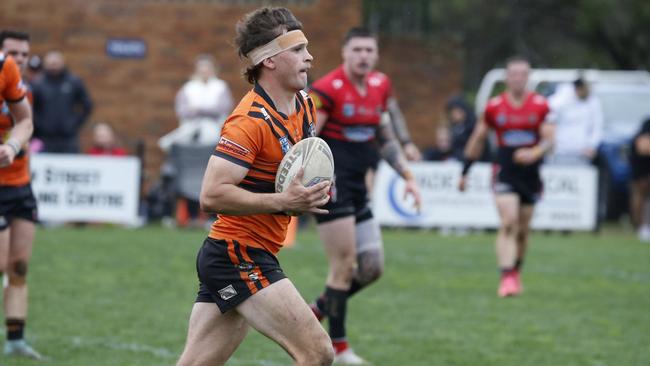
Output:
<svg viewBox="0 0 650 366">
<path fill-rule="evenodd" d="M 41 359 L 24 340 L 27 267 L 36 231 L 36 199 L 30 184 L 27 145 L 33 130 L 28 102 L 31 93 L 19 73 L 19 70 L 25 72 L 27 67 L 29 35 L 2 31 L 0 47 L 4 55 L 0 56 L 3 57 L 0 85 L 4 83 L 0 98 L 0 142 L 3 143 L 0 145 L 0 272 L 8 277 L 3 298 L 7 327 L 4 353 Z"/>
</svg>

